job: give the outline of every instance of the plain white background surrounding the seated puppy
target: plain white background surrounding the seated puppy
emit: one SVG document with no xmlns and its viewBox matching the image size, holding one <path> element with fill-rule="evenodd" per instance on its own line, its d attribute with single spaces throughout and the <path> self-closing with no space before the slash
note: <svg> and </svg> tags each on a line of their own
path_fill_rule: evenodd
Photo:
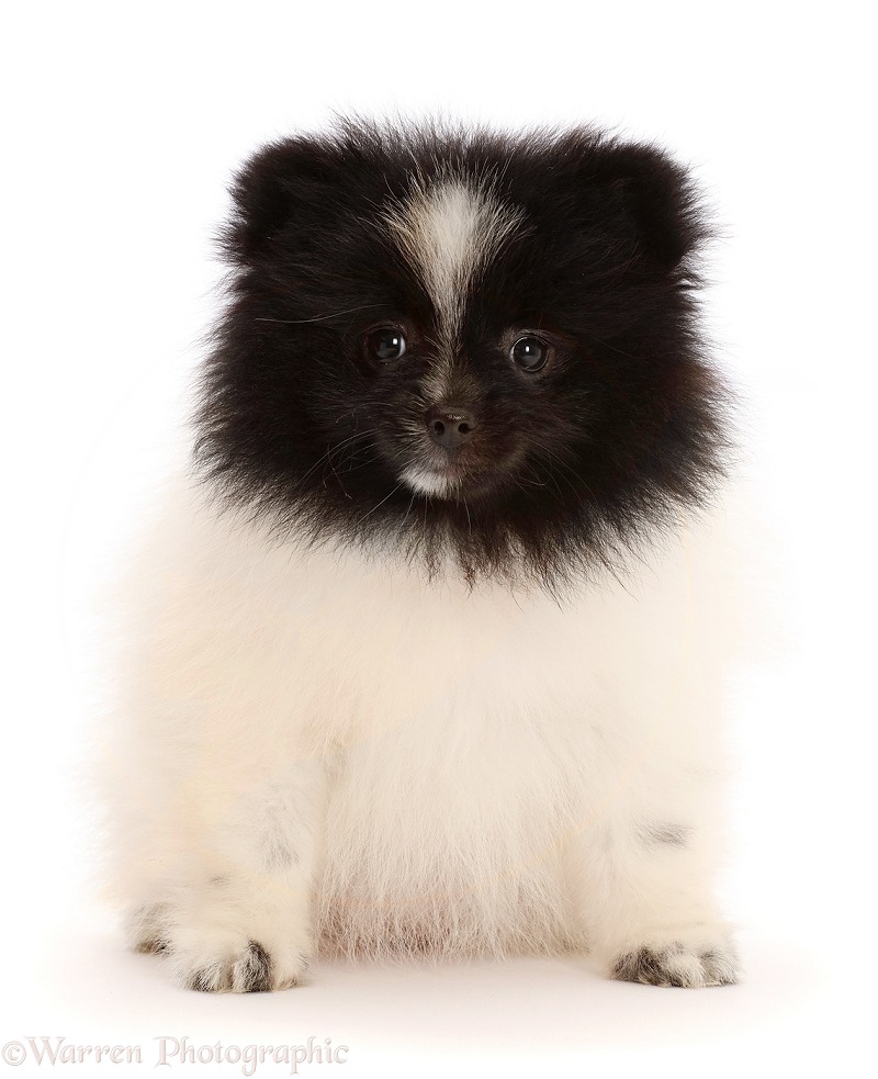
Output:
<svg viewBox="0 0 878 1079">
<path fill-rule="evenodd" d="M 0 1042 L 139 1044 L 140 1074 L 160 1035 L 350 1046 L 344 1067 L 303 1068 L 315 1076 L 561 1074 L 572 1060 L 616 1076 L 868 1069 L 878 717 L 867 10 L 8 10 Z M 573 960 L 515 960 L 322 966 L 314 986 L 272 997 L 185 993 L 158 959 L 124 952 L 90 895 L 79 779 L 106 678 L 97 589 L 173 457 L 215 304 L 211 237 L 229 173 L 262 141 L 319 127 L 335 109 L 617 125 L 691 162 L 717 207 L 710 327 L 745 401 L 747 468 L 774 535 L 766 598 L 780 625 L 734 703 L 725 892 L 742 925 L 738 987 L 649 989 Z M 32 1070 L 29 1060 L 15 1074 Z"/>
</svg>

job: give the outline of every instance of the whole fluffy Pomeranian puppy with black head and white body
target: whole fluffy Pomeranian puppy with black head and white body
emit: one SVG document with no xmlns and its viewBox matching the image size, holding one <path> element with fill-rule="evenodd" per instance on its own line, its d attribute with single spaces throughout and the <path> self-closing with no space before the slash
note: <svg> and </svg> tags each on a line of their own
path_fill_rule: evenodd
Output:
<svg viewBox="0 0 878 1079">
<path fill-rule="evenodd" d="M 132 945 L 206 991 L 315 954 L 733 982 L 728 405 L 686 170 L 342 121 L 233 193 L 194 468 L 131 575 Z"/>
</svg>

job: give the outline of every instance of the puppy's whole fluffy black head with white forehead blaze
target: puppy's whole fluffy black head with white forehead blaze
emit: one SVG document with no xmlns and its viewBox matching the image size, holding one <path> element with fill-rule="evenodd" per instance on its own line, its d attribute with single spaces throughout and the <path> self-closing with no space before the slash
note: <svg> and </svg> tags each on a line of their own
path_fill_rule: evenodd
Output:
<svg viewBox="0 0 878 1079">
<path fill-rule="evenodd" d="M 683 168 L 590 128 L 269 145 L 234 184 L 198 460 L 281 531 L 470 581 L 615 565 L 722 472 L 706 235 Z"/>
</svg>

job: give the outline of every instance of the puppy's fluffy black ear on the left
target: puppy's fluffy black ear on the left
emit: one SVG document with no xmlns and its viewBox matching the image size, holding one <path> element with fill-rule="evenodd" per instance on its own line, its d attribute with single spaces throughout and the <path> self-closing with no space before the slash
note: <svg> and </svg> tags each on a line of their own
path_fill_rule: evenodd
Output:
<svg viewBox="0 0 878 1079">
<path fill-rule="evenodd" d="M 270 143 L 255 154 L 232 183 L 233 210 L 223 234 L 229 261 L 258 261 L 291 226 L 317 223 L 337 165 L 330 146 L 308 138 Z"/>
</svg>

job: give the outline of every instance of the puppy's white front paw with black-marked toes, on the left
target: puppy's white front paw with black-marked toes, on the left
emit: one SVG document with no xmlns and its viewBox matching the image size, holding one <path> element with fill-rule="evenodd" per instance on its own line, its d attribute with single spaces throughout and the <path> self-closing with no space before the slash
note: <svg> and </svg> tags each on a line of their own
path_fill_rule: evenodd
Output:
<svg viewBox="0 0 878 1079">
<path fill-rule="evenodd" d="M 307 947 L 277 936 L 178 928 L 165 952 L 177 980 L 200 992 L 269 992 L 301 985 Z"/>
</svg>

